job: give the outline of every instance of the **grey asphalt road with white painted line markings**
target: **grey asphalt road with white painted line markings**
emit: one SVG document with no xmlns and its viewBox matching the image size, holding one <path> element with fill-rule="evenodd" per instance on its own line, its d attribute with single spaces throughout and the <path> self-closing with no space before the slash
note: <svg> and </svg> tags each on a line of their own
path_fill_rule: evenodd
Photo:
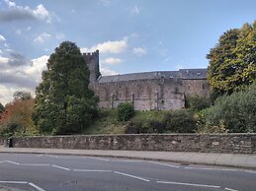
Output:
<svg viewBox="0 0 256 191">
<path fill-rule="evenodd" d="M 1 186 L 32 191 L 255 191 L 256 171 L 152 160 L 0 154 L 0 190 Z"/>
</svg>

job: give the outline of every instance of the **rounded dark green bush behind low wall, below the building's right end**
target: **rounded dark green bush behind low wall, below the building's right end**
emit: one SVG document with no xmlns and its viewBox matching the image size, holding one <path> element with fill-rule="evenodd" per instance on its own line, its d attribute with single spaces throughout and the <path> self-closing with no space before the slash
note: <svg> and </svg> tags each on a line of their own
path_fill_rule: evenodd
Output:
<svg viewBox="0 0 256 191">
<path fill-rule="evenodd" d="M 197 128 L 193 113 L 185 109 L 166 114 L 164 122 L 166 130 L 172 133 L 194 133 Z"/>
</svg>

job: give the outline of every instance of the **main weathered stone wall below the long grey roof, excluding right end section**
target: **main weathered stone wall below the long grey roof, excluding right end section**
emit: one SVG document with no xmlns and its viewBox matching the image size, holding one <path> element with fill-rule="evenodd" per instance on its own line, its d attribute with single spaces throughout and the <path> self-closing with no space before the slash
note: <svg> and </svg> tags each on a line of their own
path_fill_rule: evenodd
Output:
<svg viewBox="0 0 256 191">
<path fill-rule="evenodd" d="M 99 107 L 116 108 L 130 101 L 135 110 L 174 110 L 185 106 L 184 89 L 176 79 L 132 80 L 97 83 Z"/>
</svg>

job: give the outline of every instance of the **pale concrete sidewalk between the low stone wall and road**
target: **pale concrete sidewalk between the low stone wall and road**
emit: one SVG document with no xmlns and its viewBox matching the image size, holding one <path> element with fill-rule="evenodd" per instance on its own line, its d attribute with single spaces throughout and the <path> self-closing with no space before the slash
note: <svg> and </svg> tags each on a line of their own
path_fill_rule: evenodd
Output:
<svg viewBox="0 0 256 191">
<path fill-rule="evenodd" d="M 150 152 L 150 151 L 113 151 L 113 150 L 63 150 L 35 148 L 5 148 L 0 147 L 0 153 L 11 154 L 47 154 L 75 155 L 93 157 L 112 157 L 128 159 L 153 159 L 174 161 L 182 164 L 224 165 L 256 169 L 256 155 L 213 154 L 189 152 Z"/>
</svg>

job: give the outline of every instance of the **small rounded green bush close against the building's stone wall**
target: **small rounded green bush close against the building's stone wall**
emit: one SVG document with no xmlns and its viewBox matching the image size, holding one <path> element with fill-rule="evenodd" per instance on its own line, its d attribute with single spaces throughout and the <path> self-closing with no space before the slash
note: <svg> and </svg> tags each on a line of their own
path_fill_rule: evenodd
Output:
<svg viewBox="0 0 256 191">
<path fill-rule="evenodd" d="M 128 121 L 135 111 L 131 102 L 122 102 L 118 105 L 118 119 L 119 121 Z"/>
</svg>

